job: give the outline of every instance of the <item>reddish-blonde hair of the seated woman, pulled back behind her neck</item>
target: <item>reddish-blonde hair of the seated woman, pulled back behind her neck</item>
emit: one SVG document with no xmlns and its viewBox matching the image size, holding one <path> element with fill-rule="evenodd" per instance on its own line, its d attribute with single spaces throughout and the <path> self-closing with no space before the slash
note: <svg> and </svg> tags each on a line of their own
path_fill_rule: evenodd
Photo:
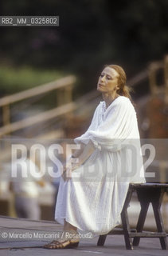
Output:
<svg viewBox="0 0 168 256">
<path fill-rule="evenodd" d="M 107 65 L 107 66 L 111 67 L 112 69 L 117 71 L 117 73 L 119 74 L 119 78 L 118 78 L 119 89 L 116 91 L 117 94 L 131 99 L 130 92 L 132 90 L 131 90 L 130 87 L 128 87 L 126 85 L 127 76 L 126 76 L 125 71 L 123 70 L 123 68 L 121 66 L 118 66 L 118 65 Z"/>
</svg>

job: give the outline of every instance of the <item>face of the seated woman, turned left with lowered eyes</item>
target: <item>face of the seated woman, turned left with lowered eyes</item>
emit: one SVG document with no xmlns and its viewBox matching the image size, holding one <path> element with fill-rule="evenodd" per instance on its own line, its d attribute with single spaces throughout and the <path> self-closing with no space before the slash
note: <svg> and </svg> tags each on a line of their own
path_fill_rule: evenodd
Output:
<svg viewBox="0 0 168 256">
<path fill-rule="evenodd" d="M 116 70 L 107 66 L 100 74 L 100 78 L 97 83 L 97 90 L 101 93 L 112 92 L 115 89 L 119 89 L 117 86 L 119 74 Z"/>
</svg>

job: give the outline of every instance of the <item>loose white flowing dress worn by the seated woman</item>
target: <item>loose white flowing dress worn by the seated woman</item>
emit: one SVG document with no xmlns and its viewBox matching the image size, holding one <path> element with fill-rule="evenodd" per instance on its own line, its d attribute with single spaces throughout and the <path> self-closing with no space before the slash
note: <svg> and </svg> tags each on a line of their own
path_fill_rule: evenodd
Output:
<svg viewBox="0 0 168 256">
<path fill-rule="evenodd" d="M 120 223 L 129 183 L 145 182 L 135 108 L 119 96 L 97 106 L 88 130 L 76 143 L 92 141 L 95 150 L 86 162 L 61 183 L 55 219 L 78 230 L 107 234 Z"/>
</svg>

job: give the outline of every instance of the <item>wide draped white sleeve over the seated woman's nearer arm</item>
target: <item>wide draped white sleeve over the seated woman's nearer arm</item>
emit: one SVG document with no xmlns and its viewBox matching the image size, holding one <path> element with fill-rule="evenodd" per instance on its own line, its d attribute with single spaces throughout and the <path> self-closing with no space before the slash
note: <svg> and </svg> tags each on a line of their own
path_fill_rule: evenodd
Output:
<svg viewBox="0 0 168 256">
<path fill-rule="evenodd" d="M 100 108 L 98 108 L 100 110 Z M 97 111 L 99 112 L 99 111 Z M 95 118 L 98 118 L 99 113 Z M 139 138 L 139 130 L 134 106 L 126 97 L 119 97 L 111 103 L 104 113 L 103 122 L 93 118 L 92 126 L 84 136 L 77 138 L 75 142 L 91 140 L 94 146 L 100 150 L 120 150 L 126 140 Z"/>
</svg>

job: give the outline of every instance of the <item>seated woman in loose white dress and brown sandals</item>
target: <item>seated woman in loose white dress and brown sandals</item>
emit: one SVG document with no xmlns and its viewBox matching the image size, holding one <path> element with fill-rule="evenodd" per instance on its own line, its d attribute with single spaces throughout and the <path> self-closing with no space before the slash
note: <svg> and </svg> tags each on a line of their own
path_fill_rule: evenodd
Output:
<svg viewBox="0 0 168 256">
<path fill-rule="evenodd" d="M 57 196 L 55 219 L 75 235 L 53 241 L 47 249 L 77 246 L 77 230 L 107 234 L 120 222 L 129 183 L 145 182 L 137 118 L 123 68 L 106 66 L 97 90 L 104 101 L 85 134 L 75 139 L 80 150 L 64 166 Z"/>
</svg>

